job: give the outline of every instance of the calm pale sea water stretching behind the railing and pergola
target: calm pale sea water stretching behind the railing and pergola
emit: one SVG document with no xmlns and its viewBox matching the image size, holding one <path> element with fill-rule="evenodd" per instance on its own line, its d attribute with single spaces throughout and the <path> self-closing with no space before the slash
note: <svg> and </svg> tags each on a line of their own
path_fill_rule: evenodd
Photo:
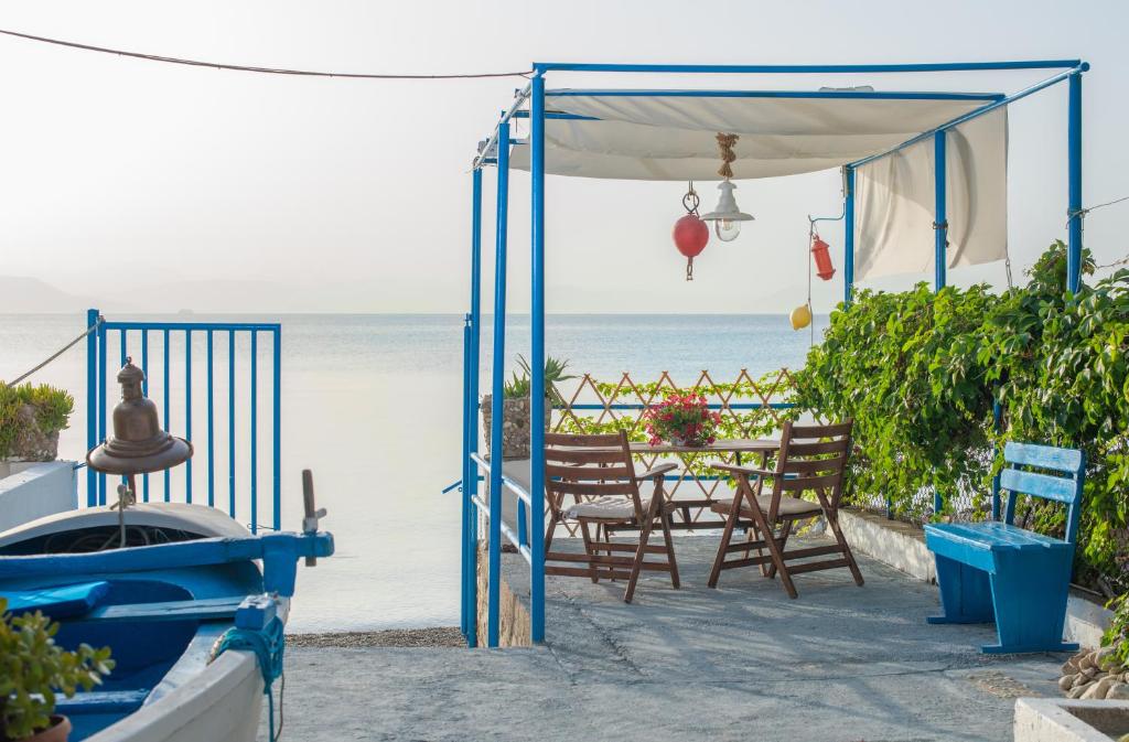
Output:
<svg viewBox="0 0 1129 742">
<path fill-rule="evenodd" d="M 126 318 L 126 317 L 112 317 Z M 441 490 L 461 475 L 463 326 L 461 315 L 177 315 L 128 317 L 158 321 L 269 321 L 282 323 L 281 489 L 282 527 L 301 520 L 300 471 L 312 469 L 317 503 L 336 553 L 315 568 L 298 568 L 298 593 L 289 630 L 343 631 L 453 626 L 458 623 L 460 494 Z M 816 317 L 815 337 L 826 323 Z M 15 378 L 77 335 L 81 315 L 0 316 L 0 378 Z M 481 393 L 489 391 L 491 318 L 482 325 Z M 601 381 L 624 372 L 639 383 L 667 372 L 692 384 L 703 369 L 717 383 L 745 368 L 755 378 L 780 367 L 803 365 L 811 341 L 784 315 L 559 315 L 546 326 L 546 348 L 568 359 L 569 370 Z M 129 351 L 138 353 L 135 338 Z M 183 344 L 170 343 L 170 367 L 183 364 Z M 205 358 L 202 334 L 193 340 L 193 469 L 195 501 L 205 497 Z M 151 394 L 159 403 L 159 339 L 150 340 Z M 227 373 L 226 341 L 216 341 L 216 375 Z M 528 355 L 528 317 L 509 321 L 507 374 L 517 353 Z M 113 384 L 117 346 L 108 353 Z M 270 340 L 260 347 L 261 501 L 269 503 Z M 250 349 L 236 355 L 245 379 Z M 30 381 L 70 391 L 76 399 L 70 428 L 60 437 L 60 456 L 81 461 L 86 448 L 86 344 L 79 343 Z M 183 374 L 170 376 L 169 428 L 185 433 Z M 180 389 L 178 389 L 180 386 Z M 217 500 L 226 501 L 226 386 L 217 381 L 213 447 L 220 471 Z M 116 400 L 111 389 L 111 405 Z M 237 447 L 247 455 L 246 395 L 237 396 Z M 174 488 L 183 473 L 174 471 Z M 250 482 L 237 480 L 240 498 Z M 79 477 L 85 501 L 85 475 Z M 112 489 L 112 488 L 111 488 Z M 154 482 L 154 494 L 158 482 Z M 178 490 L 174 490 L 178 495 Z M 247 522 L 246 513 L 238 514 Z M 269 521 L 269 517 L 268 517 Z M 263 522 L 263 517 L 260 517 Z"/>
</svg>

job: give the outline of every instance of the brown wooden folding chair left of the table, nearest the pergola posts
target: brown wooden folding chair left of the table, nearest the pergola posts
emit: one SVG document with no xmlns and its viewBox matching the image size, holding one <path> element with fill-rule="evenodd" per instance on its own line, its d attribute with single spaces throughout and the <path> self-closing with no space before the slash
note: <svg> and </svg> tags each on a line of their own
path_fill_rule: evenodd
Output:
<svg viewBox="0 0 1129 742">
<path fill-rule="evenodd" d="M 640 570 L 668 571 L 679 587 L 679 566 L 671 541 L 669 508 L 663 495 L 663 475 L 676 469 L 663 464 L 636 474 L 627 433 L 611 435 L 545 434 L 545 495 L 549 530 L 545 534 L 545 574 L 588 577 L 592 582 L 627 579 L 623 601 L 631 602 Z M 647 497 L 639 483 L 654 480 Z M 571 497 L 571 503 L 566 498 Z M 577 523 L 584 536 L 584 553 L 552 551 L 553 532 L 562 523 Z M 638 530 L 637 543 L 598 539 L 597 531 Z M 662 545 L 649 543 L 655 526 L 663 532 Z M 627 552 L 627 553 L 625 553 Z M 646 559 L 663 555 L 660 559 Z M 559 564 L 563 562 L 563 564 Z M 584 565 L 584 566 L 579 566 Z"/>
</svg>

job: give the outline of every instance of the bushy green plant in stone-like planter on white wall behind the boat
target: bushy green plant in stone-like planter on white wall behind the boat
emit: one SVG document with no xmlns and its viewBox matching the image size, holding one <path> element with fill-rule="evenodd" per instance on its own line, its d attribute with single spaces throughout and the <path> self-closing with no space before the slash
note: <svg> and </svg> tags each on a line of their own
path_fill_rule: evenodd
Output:
<svg viewBox="0 0 1129 742">
<path fill-rule="evenodd" d="M 0 461 L 53 461 L 73 409 L 63 390 L 0 383 Z"/>
</svg>

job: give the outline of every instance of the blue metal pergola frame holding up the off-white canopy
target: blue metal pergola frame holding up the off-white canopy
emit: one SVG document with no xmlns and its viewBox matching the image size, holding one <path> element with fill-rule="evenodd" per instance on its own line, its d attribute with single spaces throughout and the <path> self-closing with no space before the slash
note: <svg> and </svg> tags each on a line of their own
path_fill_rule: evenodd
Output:
<svg viewBox="0 0 1129 742">
<path fill-rule="evenodd" d="M 463 375 L 463 532 L 462 532 L 462 613 L 461 626 L 467 645 L 478 646 L 478 531 L 479 514 L 488 522 L 487 541 L 487 637 L 485 644 L 498 646 L 499 603 L 501 585 L 501 536 L 514 543 L 530 565 L 530 636 L 540 643 L 545 636 L 544 604 L 544 429 L 545 409 L 541 404 L 531 405 L 531 462 L 530 488 L 526 490 L 506 477 L 501 466 L 479 454 L 478 398 L 479 365 L 481 344 L 481 272 L 482 272 L 482 167 L 498 167 L 497 230 L 495 252 L 495 313 L 493 313 L 493 366 L 491 416 L 497 422 L 491 430 L 491 451 L 501 451 L 502 379 L 505 374 L 506 333 L 506 253 L 509 206 L 509 148 L 511 145 L 527 143 L 531 148 L 531 389 L 544 387 L 545 361 L 545 133 L 546 119 L 586 119 L 571 114 L 545 111 L 545 77 L 549 72 L 611 72 L 611 73 L 668 73 L 668 75 L 839 75 L 839 73 L 889 73 L 889 72 L 977 72 L 1004 70 L 1061 70 L 1053 77 L 1032 85 L 1012 95 L 972 95 L 959 93 L 850 93 L 842 90 L 576 90 L 570 95 L 642 95 L 642 96 L 729 96 L 729 97 L 811 97 L 811 98 L 934 98 L 983 99 L 983 106 L 935 129 L 921 132 L 901 145 L 872 157 L 843 165 L 843 300 L 850 303 L 855 281 L 855 173 L 869 162 L 891 155 L 904 147 L 933 138 L 936 162 L 945 162 L 946 132 L 960 124 L 1006 106 L 1033 93 L 1067 81 L 1068 95 L 1068 257 L 1067 287 L 1077 291 L 1082 265 L 1082 75 L 1089 64 L 1082 60 L 1036 60 L 1017 62 L 954 62 L 930 64 L 577 64 L 561 62 L 536 62 L 528 85 L 519 90 L 514 103 L 505 111 L 493 132 L 480 148 L 472 174 L 472 222 L 471 222 L 471 306 L 464 329 L 464 375 Z M 558 93 L 563 94 L 563 93 Z M 522 106 L 528 102 L 528 110 Z M 528 117 L 530 138 L 527 142 L 510 140 L 509 122 L 516 117 Z M 945 203 L 945 168 L 936 168 L 935 183 L 935 287 L 945 286 L 945 248 L 947 245 L 947 221 Z M 479 472 L 489 477 L 490 501 L 479 494 Z M 515 533 L 502 523 L 501 497 L 508 490 L 517 497 L 518 531 Z M 526 512 L 528 529 L 526 529 Z"/>
</svg>

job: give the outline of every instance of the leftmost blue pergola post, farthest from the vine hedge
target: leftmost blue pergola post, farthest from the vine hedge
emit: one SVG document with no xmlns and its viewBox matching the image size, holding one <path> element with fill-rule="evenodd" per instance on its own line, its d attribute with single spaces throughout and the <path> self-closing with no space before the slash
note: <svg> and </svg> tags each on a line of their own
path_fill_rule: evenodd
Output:
<svg viewBox="0 0 1129 742">
<path fill-rule="evenodd" d="M 478 646 L 479 517 L 474 498 L 479 468 L 479 352 L 482 314 L 482 168 L 471 174 L 471 311 L 463 329 L 463 583 L 462 628 L 469 647 Z"/>
</svg>

